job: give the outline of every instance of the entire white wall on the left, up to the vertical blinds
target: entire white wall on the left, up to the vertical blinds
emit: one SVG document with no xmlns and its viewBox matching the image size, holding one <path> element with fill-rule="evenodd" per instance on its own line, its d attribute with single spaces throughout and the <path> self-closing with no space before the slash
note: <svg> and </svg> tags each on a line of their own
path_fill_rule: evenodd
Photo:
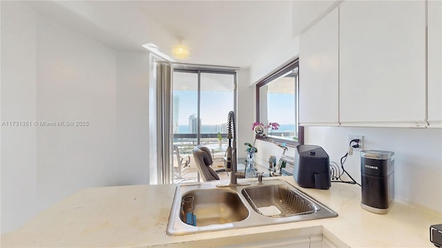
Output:
<svg viewBox="0 0 442 248">
<path fill-rule="evenodd" d="M 149 182 L 148 56 L 1 1 L 1 121 L 88 121 L 1 127 L 2 234 L 81 188 Z"/>
</svg>

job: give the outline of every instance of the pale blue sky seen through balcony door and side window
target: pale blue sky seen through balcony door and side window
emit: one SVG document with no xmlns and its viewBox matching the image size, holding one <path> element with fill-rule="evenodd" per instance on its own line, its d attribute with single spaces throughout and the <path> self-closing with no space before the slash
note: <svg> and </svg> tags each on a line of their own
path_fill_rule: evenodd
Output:
<svg viewBox="0 0 442 248">
<path fill-rule="evenodd" d="M 200 73 L 201 87 L 201 113 L 202 125 L 221 125 L 227 123 L 227 115 L 233 110 L 233 75 L 217 73 Z M 293 78 L 282 77 L 272 84 L 272 87 L 287 88 L 287 84 L 293 88 Z M 189 125 L 189 116 L 198 114 L 198 74 L 195 72 L 174 72 L 173 74 L 173 95 L 178 100 L 178 125 Z M 290 91 L 290 90 L 289 90 Z M 268 93 L 267 104 L 268 119 L 280 125 L 294 124 L 295 106 L 294 94 L 284 93 L 282 90 L 271 90 Z M 239 96 L 241 97 L 241 96 Z M 174 103 L 175 105 L 175 103 Z M 250 110 L 255 111 L 255 110 Z M 174 114 L 176 117 L 176 114 Z M 253 123 L 250 123 L 252 125 Z M 267 124 L 267 123 L 266 123 Z"/>
</svg>

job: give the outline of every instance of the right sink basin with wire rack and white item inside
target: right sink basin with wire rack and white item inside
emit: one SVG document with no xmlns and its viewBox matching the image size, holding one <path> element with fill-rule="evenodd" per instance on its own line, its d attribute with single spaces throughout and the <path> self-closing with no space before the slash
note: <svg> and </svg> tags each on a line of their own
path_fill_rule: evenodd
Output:
<svg viewBox="0 0 442 248">
<path fill-rule="evenodd" d="M 243 192 L 253 210 L 263 216 L 282 218 L 319 210 L 317 205 L 285 185 L 246 188 Z"/>
</svg>

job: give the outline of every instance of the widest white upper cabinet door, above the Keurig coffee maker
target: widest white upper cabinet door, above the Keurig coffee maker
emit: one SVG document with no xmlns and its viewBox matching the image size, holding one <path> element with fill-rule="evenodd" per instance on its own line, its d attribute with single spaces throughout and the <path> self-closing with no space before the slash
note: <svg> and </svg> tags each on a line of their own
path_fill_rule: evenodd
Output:
<svg viewBox="0 0 442 248">
<path fill-rule="evenodd" d="M 340 5 L 341 125 L 425 127 L 425 1 Z"/>
</svg>

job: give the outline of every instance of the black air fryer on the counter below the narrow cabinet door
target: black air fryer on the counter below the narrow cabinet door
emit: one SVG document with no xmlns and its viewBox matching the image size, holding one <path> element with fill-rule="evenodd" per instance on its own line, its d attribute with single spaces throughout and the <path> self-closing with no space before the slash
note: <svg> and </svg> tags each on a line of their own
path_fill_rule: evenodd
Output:
<svg viewBox="0 0 442 248">
<path fill-rule="evenodd" d="M 318 145 L 296 146 L 294 179 L 300 187 L 329 189 L 329 155 Z"/>
</svg>

